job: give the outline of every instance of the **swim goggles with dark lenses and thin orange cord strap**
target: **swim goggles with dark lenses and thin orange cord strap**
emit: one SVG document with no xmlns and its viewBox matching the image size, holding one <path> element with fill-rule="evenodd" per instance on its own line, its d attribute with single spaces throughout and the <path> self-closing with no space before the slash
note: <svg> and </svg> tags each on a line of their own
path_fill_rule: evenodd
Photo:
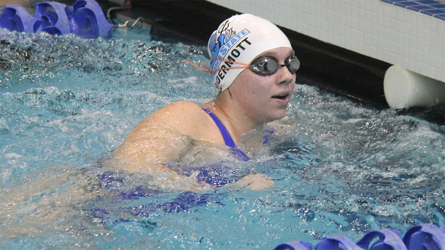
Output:
<svg viewBox="0 0 445 250">
<path fill-rule="evenodd" d="M 210 73 L 210 74 L 214 74 L 215 72 L 229 70 L 229 69 L 249 68 L 255 74 L 258 74 L 260 76 L 270 76 L 270 75 L 274 74 L 275 72 L 277 72 L 278 68 L 281 68 L 284 66 L 287 67 L 287 69 L 289 70 L 289 72 L 291 74 L 295 74 L 295 72 L 300 68 L 300 61 L 298 60 L 297 56 L 295 56 L 295 55 L 290 55 L 289 57 L 287 57 L 285 59 L 285 64 L 278 63 L 278 61 L 271 56 L 258 57 L 251 64 L 234 62 L 234 61 L 229 61 L 229 60 L 219 59 L 219 58 L 210 58 L 210 60 L 222 61 L 222 62 L 231 63 L 231 64 L 235 63 L 235 64 L 240 64 L 241 66 L 224 67 L 224 68 L 217 69 L 215 71 L 211 71 L 210 68 L 204 62 L 202 62 L 201 65 L 198 66 L 195 63 L 192 63 L 185 59 L 183 59 L 182 61 L 184 61 L 186 63 L 190 63 L 197 69 L 202 70 L 207 73 Z"/>
</svg>

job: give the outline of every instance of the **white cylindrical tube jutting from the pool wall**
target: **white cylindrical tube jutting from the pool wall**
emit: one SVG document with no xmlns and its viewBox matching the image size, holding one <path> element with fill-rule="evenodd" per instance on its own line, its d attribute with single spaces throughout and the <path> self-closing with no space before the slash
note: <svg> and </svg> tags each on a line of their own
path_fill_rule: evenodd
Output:
<svg viewBox="0 0 445 250">
<path fill-rule="evenodd" d="M 429 107 L 445 104 L 445 83 L 398 65 L 386 70 L 383 90 L 389 107 Z"/>
</svg>

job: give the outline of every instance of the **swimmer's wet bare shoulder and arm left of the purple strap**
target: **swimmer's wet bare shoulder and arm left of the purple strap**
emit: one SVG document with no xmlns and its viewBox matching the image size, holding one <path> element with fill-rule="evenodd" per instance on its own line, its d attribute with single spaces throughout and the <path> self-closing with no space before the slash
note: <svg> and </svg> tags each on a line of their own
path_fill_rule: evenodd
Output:
<svg viewBox="0 0 445 250">
<path fill-rule="evenodd" d="M 158 176 L 162 189 L 201 191 L 212 188 L 207 183 L 198 183 L 195 176 L 184 176 L 167 167 L 193 146 L 194 125 L 186 120 L 193 119 L 197 110 L 201 110 L 199 106 L 189 102 L 177 102 L 157 110 L 133 129 L 111 153 L 106 164 L 119 170 Z"/>
</svg>

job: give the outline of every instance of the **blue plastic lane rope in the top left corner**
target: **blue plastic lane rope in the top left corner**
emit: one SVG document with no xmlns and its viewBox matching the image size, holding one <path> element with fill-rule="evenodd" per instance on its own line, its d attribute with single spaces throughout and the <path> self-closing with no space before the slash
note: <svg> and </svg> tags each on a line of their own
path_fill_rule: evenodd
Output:
<svg viewBox="0 0 445 250">
<path fill-rule="evenodd" d="M 36 4 L 34 17 L 18 4 L 6 5 L 0 13 L 0 28 L 10 31 L 104 37 L 112 27 L 117 25 L 108 22 L 95 0 L 77 0 L 73 6 L 54 1 L 40 2 Z"/>
</svg>

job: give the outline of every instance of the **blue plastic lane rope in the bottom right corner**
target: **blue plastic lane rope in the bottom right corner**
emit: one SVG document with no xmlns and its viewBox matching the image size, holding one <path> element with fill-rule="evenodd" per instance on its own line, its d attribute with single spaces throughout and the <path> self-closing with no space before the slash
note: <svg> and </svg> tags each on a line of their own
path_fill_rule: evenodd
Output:
<svg viewBox="0 0 445 250">
<path fill-rule="evenodd" d="M 274 250 L 312 250 L 312 244 L 292 241 L 280 244 Z M 315 250 L 445 250 L 445 226 L 413 226 L 403 239 L 396 230 L 381 229 L 365 234 L 357 243 L 343 235 L 332 235 L 320 240 Z"/>
</svg>

